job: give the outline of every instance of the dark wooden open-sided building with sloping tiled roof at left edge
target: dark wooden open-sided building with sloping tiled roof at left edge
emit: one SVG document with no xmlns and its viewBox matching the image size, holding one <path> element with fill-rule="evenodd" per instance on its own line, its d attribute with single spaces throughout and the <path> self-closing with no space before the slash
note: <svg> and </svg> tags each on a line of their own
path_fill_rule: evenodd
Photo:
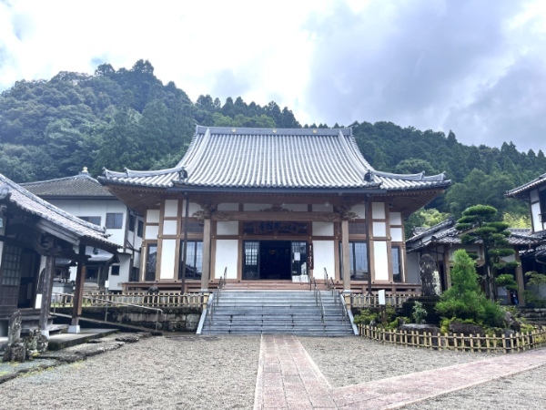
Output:
<svg viewBox="0 0 546 410">
<path fill-rule="evenodd" d="M 0 336 L 13 313 L 24 328 L 49 334 L 56 259 L 77 266 L 81 294 L 86 248 L 115 254 L 116 243 L 100 227 L 80 220 L 0 174 Z M 79 286 L 79 287 L 78 287 Z M 77 323 L 73 323 L 77 324 Z"/>
</svg>

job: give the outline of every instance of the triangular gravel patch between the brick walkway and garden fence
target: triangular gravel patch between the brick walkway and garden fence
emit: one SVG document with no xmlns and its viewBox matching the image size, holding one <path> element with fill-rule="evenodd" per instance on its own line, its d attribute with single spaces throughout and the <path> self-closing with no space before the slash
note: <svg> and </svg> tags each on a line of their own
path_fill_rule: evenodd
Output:
<svg viewBox="0 0 546 410">
<path fill-rule="evenodd" d="M 298 339 L 332 387 L 359 384 L 492 357 L 490 354 L 437 352 L 381 344 L 363 337 Z"/>
</svg>

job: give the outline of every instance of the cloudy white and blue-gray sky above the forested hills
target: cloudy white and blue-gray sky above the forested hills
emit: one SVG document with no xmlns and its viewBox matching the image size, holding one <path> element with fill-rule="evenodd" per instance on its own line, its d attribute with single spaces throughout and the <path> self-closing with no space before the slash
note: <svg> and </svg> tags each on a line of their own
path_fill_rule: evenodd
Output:
<svg viewBox="0 0 546 410">
<path fill-rule="evenodd" d="M 194 101 L 546 151 L 542 0 L 0 0 L 0 91 L 140 58 Z"/>
</svg>

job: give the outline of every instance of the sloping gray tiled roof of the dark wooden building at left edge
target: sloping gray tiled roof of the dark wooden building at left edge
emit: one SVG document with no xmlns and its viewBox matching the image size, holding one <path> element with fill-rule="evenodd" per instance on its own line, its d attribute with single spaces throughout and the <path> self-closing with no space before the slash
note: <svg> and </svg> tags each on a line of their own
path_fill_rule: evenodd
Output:
<svg viewBox="0 0 546 410">
<path fill-rule="evenodd" d="M 16 207 L 44 220 L 53 222 L 59 228 L 75 234 L 83 243 L 96 244 L 97 246 L 103 245 L 103 249 L 109 251 L 116 250 L 119 247 L 115 243 L 107 241 L 106 238 L 109 235 L 106 234 L 104 229 L 80 220 L 65 210 L 60 210 L 2 174 L 0 174 L 0 186 L 7 188 L 10 193 L 8 201 Z"/>
</svg>

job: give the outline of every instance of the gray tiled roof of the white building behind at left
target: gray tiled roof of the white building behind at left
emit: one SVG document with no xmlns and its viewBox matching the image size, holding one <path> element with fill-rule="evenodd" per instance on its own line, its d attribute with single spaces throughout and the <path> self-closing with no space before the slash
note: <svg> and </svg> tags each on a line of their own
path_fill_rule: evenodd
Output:
<svg viewBox="0 0 546 410">
<path fill-rule="evenodd" d="M 100 182 L 88 173 L 66 178 L 40 180 L 21 184 L 40 198 L 114 198 Z"/>
</svg>

